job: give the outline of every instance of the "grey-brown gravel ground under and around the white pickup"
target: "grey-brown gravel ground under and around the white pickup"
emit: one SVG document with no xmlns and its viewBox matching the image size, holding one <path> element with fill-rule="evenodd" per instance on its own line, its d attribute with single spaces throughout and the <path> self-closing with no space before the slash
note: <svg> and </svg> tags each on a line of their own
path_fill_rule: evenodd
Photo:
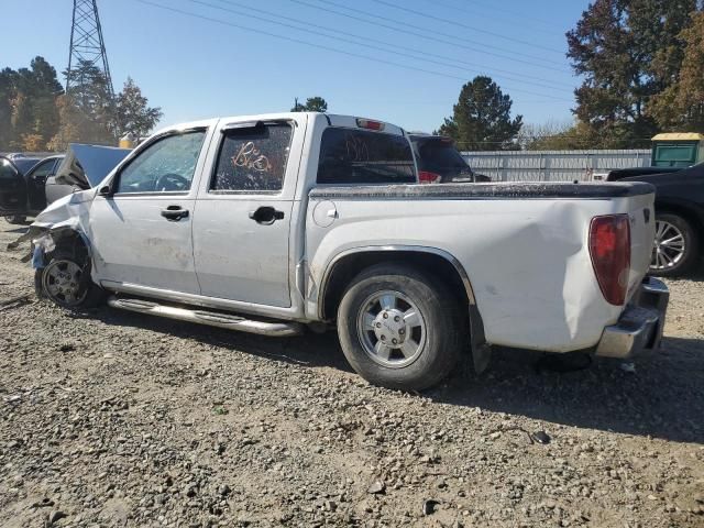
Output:
<svg viewBox="0 0 704 528">
<path fill-rule="evenodd" d="M 19 232 L 0 299 L 32 289 Z M 334 333 L 1 310 L 0 526 L 702 527 L 704 274 L 669 285 L 635 372 L 497 351 L 422 395 L 367 385 Z"/>
</svg>

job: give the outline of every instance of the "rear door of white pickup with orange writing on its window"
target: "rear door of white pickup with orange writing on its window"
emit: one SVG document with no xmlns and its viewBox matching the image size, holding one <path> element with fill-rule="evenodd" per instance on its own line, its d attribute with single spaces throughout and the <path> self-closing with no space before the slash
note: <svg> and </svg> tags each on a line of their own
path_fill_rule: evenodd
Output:
<svg viewBox="0 0 704 528">
<path fill-rule="evenodd" d="M 221 121 L 213 170 L 201 185 L 194 256 L 201 294 L 290 307 L 289 232 L 306 117 Z"/>
</svg>

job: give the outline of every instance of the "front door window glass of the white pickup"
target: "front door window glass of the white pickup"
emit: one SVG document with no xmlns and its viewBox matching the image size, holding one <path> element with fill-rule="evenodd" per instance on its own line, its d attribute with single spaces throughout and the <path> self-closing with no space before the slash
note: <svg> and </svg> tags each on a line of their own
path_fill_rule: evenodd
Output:
<svg viewBox="0 0 704 528">
<path fill-rule="evenodd" d="M 168 135 L 147 146 L 121 173 L 119 194 L 187 191 L 206 131 Z"/>
</svg>

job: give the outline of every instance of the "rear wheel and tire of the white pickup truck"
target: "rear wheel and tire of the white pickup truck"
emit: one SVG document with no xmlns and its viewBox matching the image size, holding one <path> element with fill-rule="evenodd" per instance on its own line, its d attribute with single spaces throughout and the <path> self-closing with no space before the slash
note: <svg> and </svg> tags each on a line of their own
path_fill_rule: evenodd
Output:
<svg viewBox="0 0 704 528">
<path fill-rule="evenodd" d="M 404 391 L 437 385 L 466 342 L 450 289 L 413 267 L 380 264 L 362 272 L 338 309 L 350 365 L 372 384 Z"/>
</svg>

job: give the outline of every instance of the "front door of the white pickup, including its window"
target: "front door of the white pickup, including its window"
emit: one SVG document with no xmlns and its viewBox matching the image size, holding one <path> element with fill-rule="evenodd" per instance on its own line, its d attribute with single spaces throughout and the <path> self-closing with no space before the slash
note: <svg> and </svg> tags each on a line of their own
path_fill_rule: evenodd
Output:
<svg viewBox="0 0 704 528">
<path fill-rule="evenodd" d="M 191 227 L 208 138 L 205 127 L 155 138 L 96 197 L 89 229 L 103 285 L 200 293 Z"/>
</svg>

